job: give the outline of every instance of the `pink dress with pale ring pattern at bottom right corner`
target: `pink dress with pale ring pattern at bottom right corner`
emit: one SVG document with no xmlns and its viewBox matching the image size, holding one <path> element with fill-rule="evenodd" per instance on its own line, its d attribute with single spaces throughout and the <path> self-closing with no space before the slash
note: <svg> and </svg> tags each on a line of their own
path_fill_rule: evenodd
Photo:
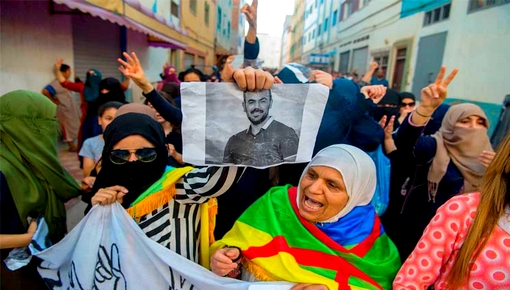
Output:
<svg viewBox="0 0 510 290">
<path fill-rule="evenodd" d="M 395 290 L 446 289 L 446 279 L 480 202 L 479 193 L 451 198 L 438 210 L 393 282 Z M 461 289 L 510 289 L 510 215 L 506 214 L 475 260 Z"/>
</svg>

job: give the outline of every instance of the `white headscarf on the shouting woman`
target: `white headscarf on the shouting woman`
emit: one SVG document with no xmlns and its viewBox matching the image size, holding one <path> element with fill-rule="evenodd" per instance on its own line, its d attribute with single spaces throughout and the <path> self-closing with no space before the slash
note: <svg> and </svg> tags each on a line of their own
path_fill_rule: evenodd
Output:
<svg viewBox="0 0 510 290">
<path fill-rule="evenodd" d="M 377 182 L 375 164 L 372 158 L 362 150 L 351 145 L 332 145 L 319 151 L 303 171 L 301 179 L 310 167 L 327 166 L 340 172 L 344 180 L 345 189 L 349 201 L 345 207 L 332 218 L 321 221 L 332 223 L 348 214 L 354 207 L 367 205 L 372 200 Z M 298 186 L 297 204 L 301 196 L 301 188 Z"/>
</svg>

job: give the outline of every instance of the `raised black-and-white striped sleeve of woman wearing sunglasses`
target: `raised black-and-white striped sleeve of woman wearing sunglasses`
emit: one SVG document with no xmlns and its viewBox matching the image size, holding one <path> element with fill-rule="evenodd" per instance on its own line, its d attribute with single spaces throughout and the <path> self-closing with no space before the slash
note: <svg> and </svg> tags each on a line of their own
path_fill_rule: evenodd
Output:
<svg viewBox="0 0 510 290">
<path fill-rule="evenodd" d="M 176 182 L 175 201 L 181 204 L 204 203 L 209 198 L 220 196 L 239 181 L 244 169 L 236 166 L 196 168 Z"/>
</svg>

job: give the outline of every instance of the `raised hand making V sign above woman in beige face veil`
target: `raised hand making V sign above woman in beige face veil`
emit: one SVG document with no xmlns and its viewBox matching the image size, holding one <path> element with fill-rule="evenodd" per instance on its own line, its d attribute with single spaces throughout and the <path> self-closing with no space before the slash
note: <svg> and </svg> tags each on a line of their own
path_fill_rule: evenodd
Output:
<svg viewBox="0 0 510 290">
<path fill-rule="evenodd" d="M 424 109 L 424 113 L 432 115 L 437 107 L 439 107 L 444 102 L 448 94 L 448 85 L 455 78 L 458 71 L 459 69 L 454 68 L 448 77 L 444 79 L 446 66 L 441 66 L 435 82 L 421 90 L 420 107 Z"/>
</svg>

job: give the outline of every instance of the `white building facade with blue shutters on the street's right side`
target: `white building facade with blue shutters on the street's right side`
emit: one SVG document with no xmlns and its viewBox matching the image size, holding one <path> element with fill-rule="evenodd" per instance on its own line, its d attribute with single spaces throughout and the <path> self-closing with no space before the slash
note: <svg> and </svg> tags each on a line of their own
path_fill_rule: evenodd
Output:
<svg viewBox="0 0 510 290">
<path fill-rule="evenodd" d="M 303 63 L 329 56 L 329 70 L 361 77 L 372 60 L 390 87 L 419 95 L 441 65 L 459 68 L 450 100 L 497 104 L 510 92 L 510 1 L 309 0 Z M 488 108 L 488 107 L 486 107 Z M 489 110 L 489 109 L 488 109 Z"/>
</svg>

